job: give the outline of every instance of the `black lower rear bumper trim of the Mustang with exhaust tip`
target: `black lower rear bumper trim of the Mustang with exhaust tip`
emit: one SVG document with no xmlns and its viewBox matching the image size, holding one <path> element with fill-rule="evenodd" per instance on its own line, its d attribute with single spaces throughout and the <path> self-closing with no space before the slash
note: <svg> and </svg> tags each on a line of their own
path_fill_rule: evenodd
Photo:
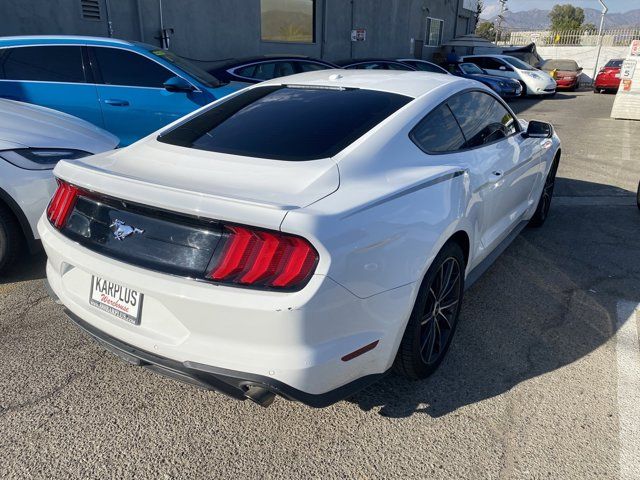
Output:
<svg viewBox="0 0 640 480">
<path fill-rule="evenodd" d="M 262 375 L 237 372 L 197 362 L 178 362 L 155 355 L 107 335 L 69 310 L 65 310 L 65 313 L 98 344 L 127 363 L 148 368 L 174 380 L 222 393 L 236 400 L 250 399 L 263 407 L 268 407 L 276 395 L 314 408 L 327 407 L 350 397 L 379 380 L 386 373 L 367 375 L 329 392 L 314 395 Z"/>
</svg>

